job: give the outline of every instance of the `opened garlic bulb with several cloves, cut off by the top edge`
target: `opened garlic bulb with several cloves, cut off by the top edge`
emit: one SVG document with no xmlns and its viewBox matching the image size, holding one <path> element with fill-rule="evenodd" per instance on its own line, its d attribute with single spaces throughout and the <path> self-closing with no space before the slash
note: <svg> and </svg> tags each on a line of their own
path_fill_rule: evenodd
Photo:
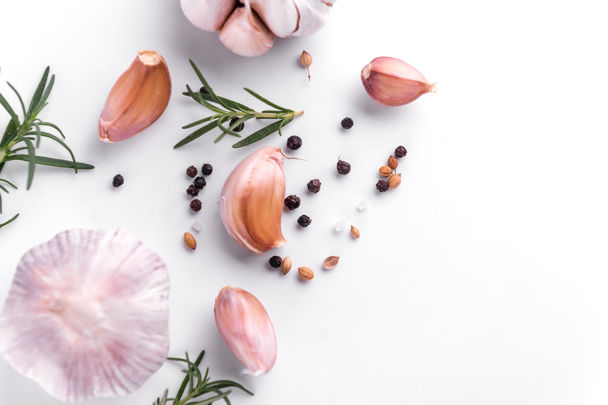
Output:
<svg viewBox="0 0 608 405">
<path fill-rule="evenodd" d="M 235 0 L 180 2 L 184 15 L 196 27 L 206 31 L 221 28 L 220 39 L 228 49 L 238 55 L 257 56 L 272 47 L 269 35 L 285 38 L 316 33 L 325 26 L 336 0 L 244 0 L 244 8 L 253 10 L 252 14 L 237 7 Z"/>
</svg>

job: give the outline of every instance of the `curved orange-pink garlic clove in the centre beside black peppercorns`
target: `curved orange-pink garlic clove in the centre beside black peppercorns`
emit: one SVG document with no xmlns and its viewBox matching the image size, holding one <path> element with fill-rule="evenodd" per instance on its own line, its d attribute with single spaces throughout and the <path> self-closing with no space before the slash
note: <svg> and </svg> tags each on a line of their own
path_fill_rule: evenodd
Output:
<svg viewBox="0 0 608 405">
<path fill-rule="evenodd" d="M 230 173 L 219 213 L 232 239 L 255 254 L 287 243 L 281 231 L 285 172 L 281 148 L 264 146 Z"/>
</svg>

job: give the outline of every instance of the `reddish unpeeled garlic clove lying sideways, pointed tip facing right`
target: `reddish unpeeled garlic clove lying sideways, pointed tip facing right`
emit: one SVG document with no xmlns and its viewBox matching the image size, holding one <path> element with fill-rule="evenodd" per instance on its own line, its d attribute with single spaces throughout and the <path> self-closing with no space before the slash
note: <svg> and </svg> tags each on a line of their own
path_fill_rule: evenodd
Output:
<svg viewBox="0 0 608 405">
<path fill-rule="evenodd" d="M 367 94 L 383 106 L 396 107 L 411 103 L 425 93 L 437 91 L 422 73 L 396 58 L 375 58 L 361 70 L 361 81 Z"/>
</svg>

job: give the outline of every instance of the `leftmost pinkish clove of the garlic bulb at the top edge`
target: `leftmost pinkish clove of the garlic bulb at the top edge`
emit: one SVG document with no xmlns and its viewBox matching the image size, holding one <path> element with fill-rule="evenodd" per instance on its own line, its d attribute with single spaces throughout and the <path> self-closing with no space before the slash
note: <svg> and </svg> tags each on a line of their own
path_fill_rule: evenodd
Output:
<svg viewBox="0 0 608 405">
<path fill-rule="evenodd" d="M 192 24 L 206 31 L 221 29 L 237 7 L 237 0 L 180 0 L 184 15 Z"/>
</svg>

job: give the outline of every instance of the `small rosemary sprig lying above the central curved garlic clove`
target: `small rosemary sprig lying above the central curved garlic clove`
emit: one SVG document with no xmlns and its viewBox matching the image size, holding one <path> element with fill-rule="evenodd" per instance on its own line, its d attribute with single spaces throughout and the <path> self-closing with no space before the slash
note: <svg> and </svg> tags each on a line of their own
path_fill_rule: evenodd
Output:
<svg viewBox="0 0 608 405">
<path fill-rule="evenodd" d="M 179 148 L 180 146 L 184 146 L 214 128 L 221 129 L 222 133 L 217 138 L 215 138 L 215 141 L 213 141 L 213 143 L 218 142 L 226 135 L 241 137 L 240 134 L 237 134 L 237 132 L 234 132 L 232 130 L 237 128 L 237 126 L 239 126 L 244 121 L 250 120 L 251 118 L 257 118 L 258 120 L 280 120 L 276 121 L 275 123 L 269 124 L 268 126 L 265 126 L 259 131 L 254 132 L 248 137 L 232 145 L 232 148 L 241 148 L 241 146 L 247 146 L 251 143 L 254 143 L 255 141 L 259 141 L 261 138 L 268 137 L 268 135 L 272 134 L 272 132 L 275 131 L 278 131 L 278 134 L 282 135 L 281 128 L 290 123 L 291 120 L 293 120 L 298 115 L 304 114 L 303 111 L 293 111 L 285 107 L 278 106 L 277 104 L 272 103 L 272 101 L 266 100 L 266 98 L 261 97 L 261 95 L 257 94 L 253 90 L 247 89 L 247 87 L 245 87 L 246 92 L 257 98 L 258 100 L 268 104 L 269 106 L 274 107 L 276 110 L 264 110 L 262 112 L 257 112 L 254 109 L 245 106 L 244 104 L 228 100 L 224 97 L 219 97 L 215 94 L 212 87 L 209 86 L 209 83 L 207 83 L 207 80 L 205 80 L 205 78 L 203 77 L 201 70 L 196 67 L 196 64 L 192 61 L 192 59 L 190 60 L 190 64 L 192 65 L 192 68 L 196 72 L 196 75 L 198 76 L 199 80 L 201 80 L 201 83 L 203 84 L 203 86 L 205 86 L 209 94 L 193 92 L 192 89 L 190 89 L 190 86 L 188 85 L 186 85 L 186 89 L 188 91 L 183 92 L 182 94 L 191 97 L 197 103 L 201 104 L 204 107 L 207 107 L 207 109 L 210 109 L 215 114 L 211 115 L 210 117 L 202 118 L 202 120 L 198 120 L 193 123 L 182 126 L 182 129 L 187 129 L 210 121 L 209 124 L 206 124 L 205 126 L 197 129 L 196 131 L 192 132 L 192 134 L 179 141 L 175 146 L 173 146 L 173 148 Z M 219 104 L 219 107 L 211 103 Z M 223 125 L 226 121 L 232 120 L 232 118 L 237 117 L 240 118 L 238 118 L 238 120 L 236 120 L 231 125 L 227 127 Z"/>
</svg>

